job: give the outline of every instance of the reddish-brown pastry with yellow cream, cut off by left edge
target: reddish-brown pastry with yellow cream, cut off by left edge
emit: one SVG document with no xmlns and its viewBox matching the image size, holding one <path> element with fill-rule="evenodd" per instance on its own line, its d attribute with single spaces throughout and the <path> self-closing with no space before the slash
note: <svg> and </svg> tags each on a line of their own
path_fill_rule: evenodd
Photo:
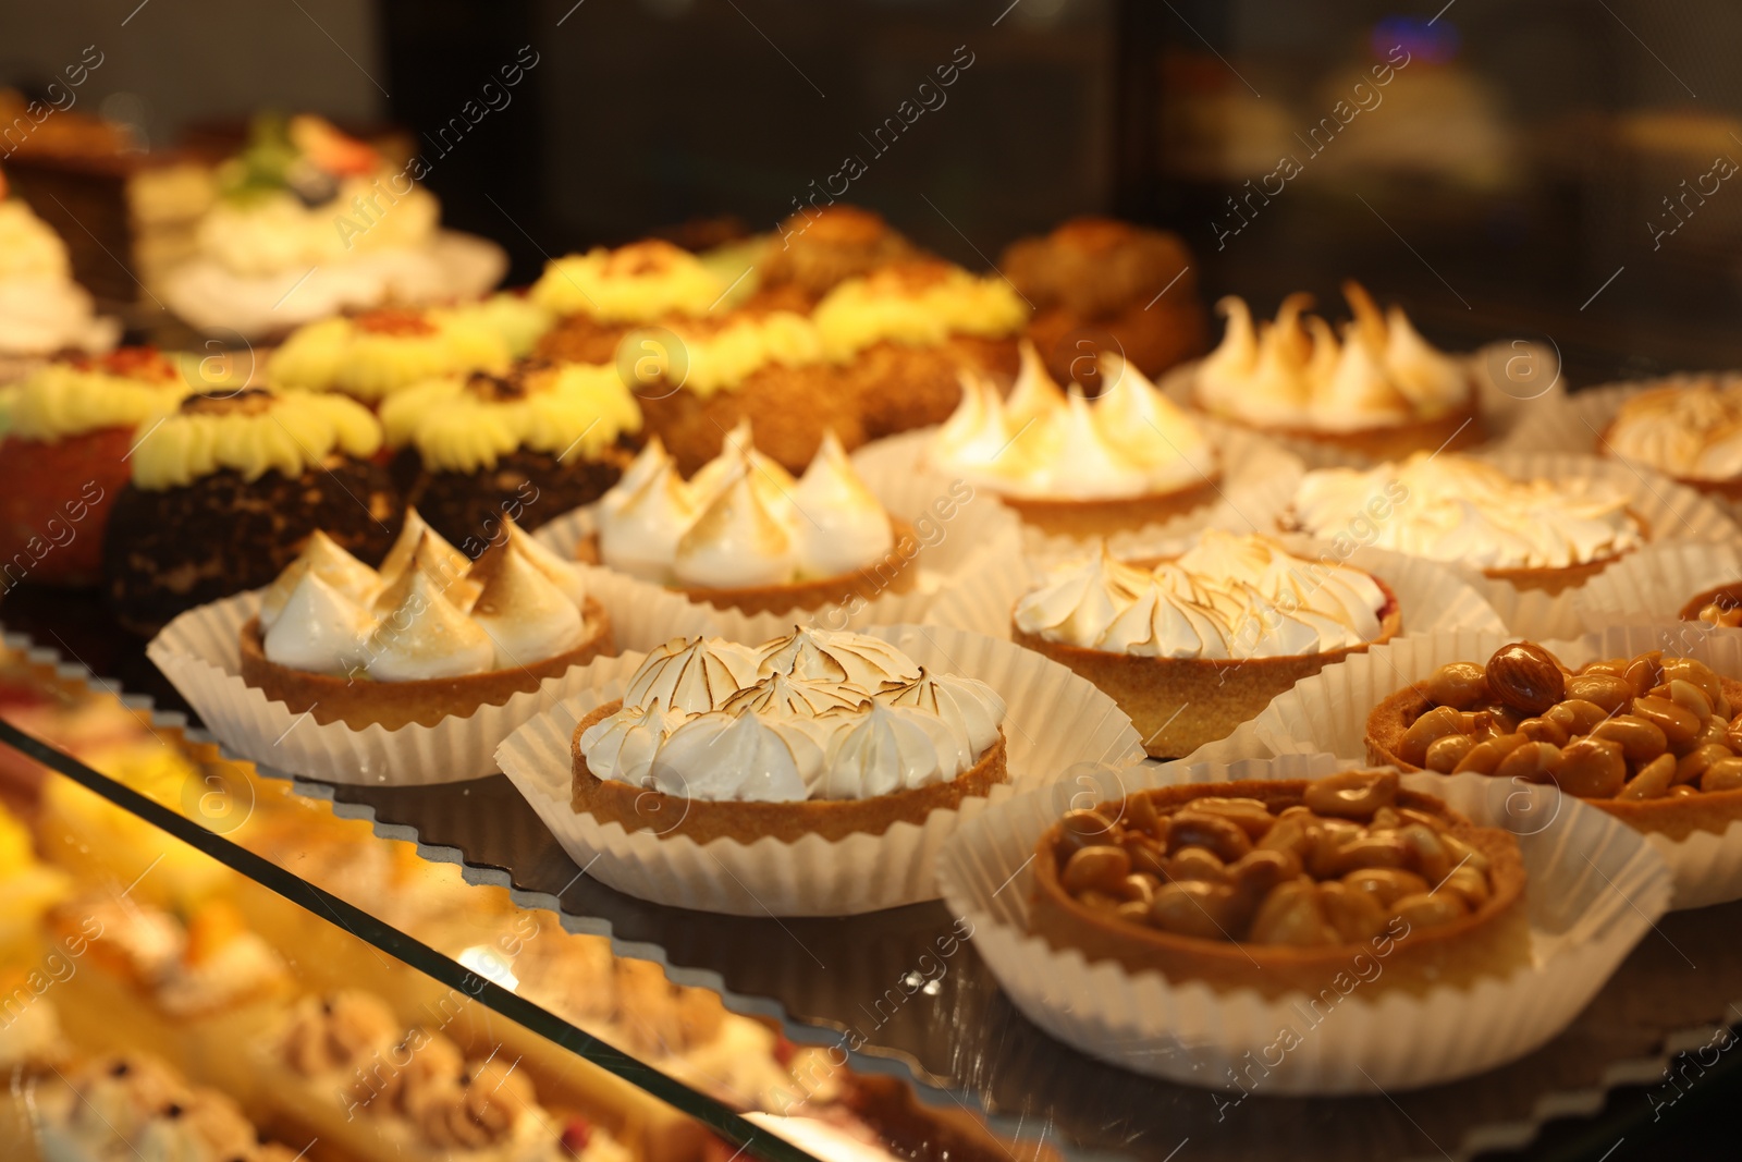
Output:
<svg viewBox="0 0 1742 1162">
<path fill-rule="evenodd" d="M 45 362 L 7 392 L 0 591 L 24 578 L 98 582 L 103 530 L 132 476 L 134 429 L 172 409 L 188 390 L 174 362 L 150 347 L 124 347 Z"/>
</svg>

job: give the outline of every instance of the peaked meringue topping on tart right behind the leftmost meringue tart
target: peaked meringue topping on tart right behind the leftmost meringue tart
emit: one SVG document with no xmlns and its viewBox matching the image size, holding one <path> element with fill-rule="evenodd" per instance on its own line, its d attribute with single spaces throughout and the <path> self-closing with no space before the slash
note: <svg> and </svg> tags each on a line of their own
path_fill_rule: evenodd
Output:
<svg viewBox="0 0 1742 1162">
<path fill-rule="evenodd" d="M 645 580 L 747 589 L 840 577 L 895 545 L 883 505 L 833 432 L 798 479 L 733 429 L 685 481 L 655 436 L 596 509 L 599 557 Z"/>
</svg>

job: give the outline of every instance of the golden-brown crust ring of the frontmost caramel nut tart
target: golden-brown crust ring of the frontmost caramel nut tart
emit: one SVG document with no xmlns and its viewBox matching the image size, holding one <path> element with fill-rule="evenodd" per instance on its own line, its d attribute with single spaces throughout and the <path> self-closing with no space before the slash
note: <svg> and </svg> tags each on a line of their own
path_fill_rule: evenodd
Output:
<svg viewBox="0 0 1742 1162">
<path fill-rule="evenodd" d="M 1205 796 L 1261 800 L 1272 814 L 1305 801 L 1306 780 L 1198 782 L 1138 791 L 1099 805 L 1122 817 L 1131 800 L 1144 798 L 1158 812 Z M 1219 993 L 1249 988 L 1261 996 L 1315 995 L 1338 976 L 1355 977 L 1361 956 L 1383 965 L 1367 988 L 1423 993 L 1435 986 L 1463 986 L 1482 976 L 1502 976 L 1528 962 L 1529 918 L 1524 904 L 1524 857 L 1517 840 L 1498 828 L 1479 828 L 1441 800 L 1397 791 L 1395 807 L 1432 815 L 1446 831 L 1488 859 L 1488 901 L 1446 923 L 1409 929 L 1374 944 L 1284 946 L 1181 936 L 1097 913 L 1064 890 L 1059 880 L 1059 843 L 1064 824 L 1054 824 L 1035 845 L 1035 894 L 1030 929 L 1061 951 L 1077 949 L 1090 962 L 1111 960 L 1131 972 L 1160 972 L 1171 983 L 1202 981 Z M 1378 939 L 1378 937 L 1376 937 Z M 1341 990 L 1347 991 L 1347 990 Z"/>
</svg>

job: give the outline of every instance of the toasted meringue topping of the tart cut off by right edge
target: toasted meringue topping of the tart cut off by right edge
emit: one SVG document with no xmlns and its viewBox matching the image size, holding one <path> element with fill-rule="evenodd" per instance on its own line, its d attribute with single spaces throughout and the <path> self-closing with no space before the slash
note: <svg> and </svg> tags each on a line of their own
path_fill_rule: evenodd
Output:
<svg viewBox="0 0 1742 1162">
<path fill-rule="evenodd" d="M 1658 387 L 1622 404 L 1608 451 L 1667 476 L 1742 479 L 1742 378 L 1707 376 Z"/>
</svg>

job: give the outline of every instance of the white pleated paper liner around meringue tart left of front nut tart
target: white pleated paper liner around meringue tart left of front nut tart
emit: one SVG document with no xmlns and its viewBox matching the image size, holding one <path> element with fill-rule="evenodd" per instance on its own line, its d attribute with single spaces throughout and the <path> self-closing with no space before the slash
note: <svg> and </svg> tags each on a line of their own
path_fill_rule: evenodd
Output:
<svg viewBox="0 0 1742 1162">
<path fill-rule="evenodd" d="M 620 892 L 737 916 L 848 916 L 937 899 L 934 868 L 944 840 L 989 803 L 1054 784 L 1080 763 L 1124 767 L 1143 758 L 1138 732 L 1113 700 L 1038 653 L 942 627 L 878 625 L 866 632 L 934 672 L 979 678 L 1003 697 L 1009 784 L 988 798 L 965 800 L 960 810 L 935 810 L 925 824 L 897 822 L 880 836 L 836 841 L 812 834 L 798 843 L 697 843 L 599 824 L 570 805 L 570 744 L 589 711 L 622 697 L 639 655 L 589 665 L 589 688 L 516 730 L 496 760 L 570 859 Z"/>
</svg>

